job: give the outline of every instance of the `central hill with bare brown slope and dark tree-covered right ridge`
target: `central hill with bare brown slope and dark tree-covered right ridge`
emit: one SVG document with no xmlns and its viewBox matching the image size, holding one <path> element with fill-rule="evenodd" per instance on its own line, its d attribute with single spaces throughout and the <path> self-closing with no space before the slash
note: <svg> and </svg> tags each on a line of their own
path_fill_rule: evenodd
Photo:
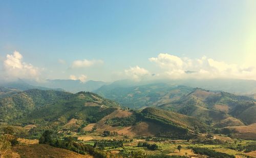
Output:
<svg viewBox="0 0 256 158">
<path fill-rule="evenodd" d="M 89 125 L 91 127 L 91 124 Z M 209 127 L 196 118 L 176 112 L 148 107 L 142 111 L 117 109 L 93 124 L 98 132 L 116 131 L 128 136 L 186 138 L 191 133 L 205 132 Z M 86 127 L 87 128 L 87 127 Z"/>
</svg>

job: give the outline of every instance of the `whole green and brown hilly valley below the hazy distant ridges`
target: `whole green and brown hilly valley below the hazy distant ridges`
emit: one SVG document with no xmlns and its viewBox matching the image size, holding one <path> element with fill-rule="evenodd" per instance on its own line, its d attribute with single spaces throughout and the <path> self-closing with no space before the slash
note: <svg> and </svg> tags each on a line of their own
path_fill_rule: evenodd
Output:
<svg viewBox="0 0 256 158">
<path fill-rule="evenodd" d="M 63 157 L 256 156 L 252 98 L 166 84 L 108 92 L 109 99 L 98 95 L 102 91 L 29 89 L 6 94 L 0 100 L 0 131 L 22 140 L 9 152 L 42 155 L 36 152 L 40 146 L 52 156 L 63 152 Z M 46 131 L 48 141 L 42 136 Z"/>
</svg>

